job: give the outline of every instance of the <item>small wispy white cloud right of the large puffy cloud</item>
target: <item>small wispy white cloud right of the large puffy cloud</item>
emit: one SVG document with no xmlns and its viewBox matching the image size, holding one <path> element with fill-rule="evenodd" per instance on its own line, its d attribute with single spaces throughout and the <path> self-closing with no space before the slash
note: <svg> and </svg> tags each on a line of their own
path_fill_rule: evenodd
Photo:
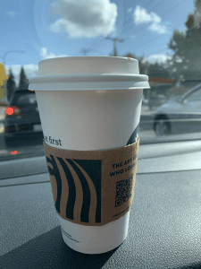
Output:
<svg viewBox="0 0 201 269">
<path fill-rule="evenodd" d="M 159 34 L 169 33 L 166 25 L 164 25 L 168 24 L 168 22 L 162 24 L 162 20 L 158 15 L 156 15 L 155 13 L 147 13 L 147 10 L 139 5 L 137 5 L 133 16 L 136 25 L 142 23 L 151 23 L 147 30 L 156 31 Z"/>
</svg>

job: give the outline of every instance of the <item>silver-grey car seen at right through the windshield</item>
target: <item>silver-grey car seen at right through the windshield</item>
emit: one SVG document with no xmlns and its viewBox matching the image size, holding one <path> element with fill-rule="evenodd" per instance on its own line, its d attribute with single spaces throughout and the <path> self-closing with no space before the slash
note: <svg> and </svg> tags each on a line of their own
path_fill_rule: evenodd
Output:
<svg viewBox="0 0 201 269">
<path fill-rule="evenodd" d="M 201 132 L 201 83 L 155 109 L 157 136 Z"/>
</svg>

